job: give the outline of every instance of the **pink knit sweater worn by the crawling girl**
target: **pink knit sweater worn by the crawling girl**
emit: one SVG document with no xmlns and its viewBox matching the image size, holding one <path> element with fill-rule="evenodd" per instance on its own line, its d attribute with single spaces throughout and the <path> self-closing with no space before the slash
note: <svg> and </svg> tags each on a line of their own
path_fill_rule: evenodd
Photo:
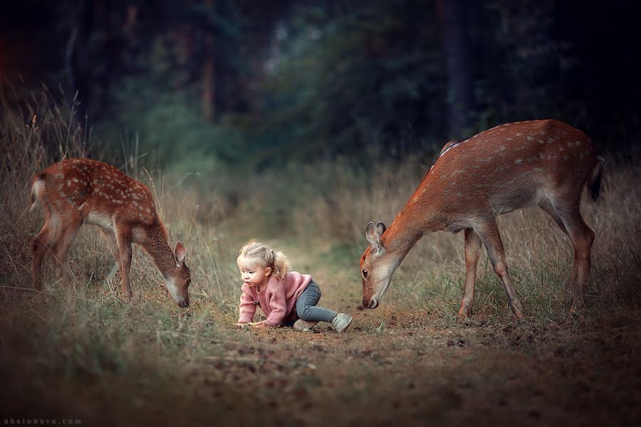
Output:
<svg viewBox="0 0 641 427">
<path fill-rule="evenodd" d="M 296 319 L 296 300 L 311 280 L 311 275 L 292 271 L 281 280 L 271 276 L 262 292 L 259 292 L 256 286 L 249 287 L 243 283 L 239 323 L 251 322 L 254 319 L 256 301 L 260 302 L 261 310 L 267 316 L 263 321 L 267 326 L 278 327 L 283 322 Z"/>
</svg>

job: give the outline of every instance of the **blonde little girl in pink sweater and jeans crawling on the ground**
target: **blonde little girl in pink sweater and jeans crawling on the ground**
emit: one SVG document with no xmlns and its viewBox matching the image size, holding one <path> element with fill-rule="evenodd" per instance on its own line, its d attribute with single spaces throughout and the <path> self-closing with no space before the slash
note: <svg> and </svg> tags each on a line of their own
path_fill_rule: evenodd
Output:
<svg viewBox="0 0 641 427">
<path fill-rule="evenodd" d="M 350 315 L 316 307 L 320 288 L 311 275 L 289 271 L 288 260 L 282 252 L 274 252 L 269 246 L 252 240 L 241 248 L 236 263 L 244 282 L 237 326 L 244 327 L 251 322 L 256 305 L 267 318 L 253 327 L 293 325 L 296 330 L 306 330 L 322 320 L 330 322 L 340 333 L 350 326 Z"/>
</svg>

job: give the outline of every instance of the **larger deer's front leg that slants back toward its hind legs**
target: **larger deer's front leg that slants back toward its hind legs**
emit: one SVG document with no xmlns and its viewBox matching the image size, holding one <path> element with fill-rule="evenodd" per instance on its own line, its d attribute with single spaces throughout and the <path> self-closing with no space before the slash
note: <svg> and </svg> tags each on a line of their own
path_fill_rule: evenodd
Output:
<svg viewBox="0 0 641 427">
<path fill-rule="evenodd" d="M 516 317 L 516 319 L 521 319 L 523 317 L 523 306 L 518 300 L 518 297 L 516 297 L 516 292 L 512 286 L 512 280 L 505 260 L 503 241 L 501 241 L 501 234 L 499 233 L 499 227 L 496 225 L 496 219 L 490 218 L 479 228 L 476 228 L 475 231 L 479 234 L 481 241 L 483 241 L 485 245 L 490 262 L 494 268 L 494 273 L 499 276 L 501 283 L 503 283 L 505 293 L 508 298 L 508 304 L 512 309 L 514 317 Z"/>
</svg>

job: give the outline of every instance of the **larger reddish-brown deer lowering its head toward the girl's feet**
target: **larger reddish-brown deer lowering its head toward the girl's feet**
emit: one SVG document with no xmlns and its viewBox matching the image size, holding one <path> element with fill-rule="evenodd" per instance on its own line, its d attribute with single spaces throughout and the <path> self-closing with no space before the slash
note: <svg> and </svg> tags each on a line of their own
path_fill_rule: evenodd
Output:
<svg viewBox="0 0 641 427">
<path fill-rule="evenodd" d="M 579 211 L 580 195 L 587 181 L 590 196 L 597 199 L 603 163 L 583 132 L 557 120 L 508 123 L 463 142 L 448 142 L 390 228 L 368 224 L 370 246 L 360 258 L 363 307 L 379 305 L 396 268 L 424 233 L 464 230 L 467 271 L 459 320 L 471 314 L 481 243 L 514 317 L 523 317 L 496 216 L 539 206 L 574 247 L 566 288 L 575 310 L 583 303 L 594 240 Z"/>
</svg>

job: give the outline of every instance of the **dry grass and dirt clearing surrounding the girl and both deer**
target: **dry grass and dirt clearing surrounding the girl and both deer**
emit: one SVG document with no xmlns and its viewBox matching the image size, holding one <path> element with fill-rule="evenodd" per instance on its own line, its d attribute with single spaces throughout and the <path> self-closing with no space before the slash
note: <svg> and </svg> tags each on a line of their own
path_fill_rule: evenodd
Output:
<svg viewBox="0 0 641 427">
<path fill-rule="evenodd" d="M 35 114 L 38 130 L 31 125 Z M 1 118 L 2 419 L 176 426 L 578 426 L 641 419 L 639 164 L 611 159 L 603 198 L 584 206 L 597 238 L 581 316 L 568 315 L 563 291 L 570 246 L 544 214 L 529 210 L 499 223 L 528 319 L 511 319 L 482 258 L 475 314 L 462 325 L 455 321 L 464 280 L 460 235 L 424 237 L 382 306 L 358 309 L 365 225 L 392 221 L 426 162 L 367 172 L 320 163 L 249 176 L 239 189 L 254 191 L 238 203 L 220 196 L 233 189 L 209 191 L 209 182 L 157 170 L 147 176 L 142 165 L 130 164 L 141 181 L 153 179 L 172 240 L 187 244 L 193 282 L 184 310 L 140 250 L 132 265 L 135 298 L 123 302 L 118 283 L 105 281 L 113 260 L 89 227 L 70 256 L 75 288 L 61 288 L 49 268 L 46 291 L 31 290 L 28 242 L 41 216 L 23 215 L 26 186 L 44 165 L 86 147 L 83 127 L 66 117 L 54 107 Z M 61 148 L 43 148 L 52 146 Z M 234 258 L 250 237 L 314 275 L 321 304 L 352 313 L 353 329 L 341 336 L 323 325 L 316 334 L 234 330 Z"/>
</svg>

